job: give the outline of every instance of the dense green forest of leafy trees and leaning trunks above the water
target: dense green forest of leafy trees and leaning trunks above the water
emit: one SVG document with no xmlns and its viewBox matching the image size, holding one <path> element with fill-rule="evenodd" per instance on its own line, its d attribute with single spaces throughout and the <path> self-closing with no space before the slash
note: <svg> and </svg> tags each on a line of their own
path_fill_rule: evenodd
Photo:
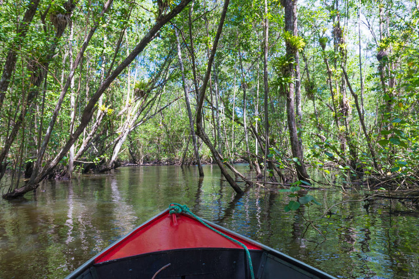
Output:
<svg viewBox="0 0 419 279">
<path fill-rule="evenodd" d="M 4 198 L 121 161 L 417 187 L 416 1 L 0 3 Z"/>
</svg>

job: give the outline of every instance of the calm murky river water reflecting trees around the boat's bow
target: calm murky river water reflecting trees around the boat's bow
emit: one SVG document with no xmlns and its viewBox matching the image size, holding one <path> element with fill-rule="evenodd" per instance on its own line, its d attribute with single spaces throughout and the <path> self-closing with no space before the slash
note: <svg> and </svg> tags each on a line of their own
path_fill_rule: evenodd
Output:
<svg viewBox="0 0 419 279">
<path fill-rule="evenodd" d="M 343 203 L 316 220 L 364 195 L 313 190 L 321 206 L 286 213 L 286 193 L 254 187 L 237 197 L 217 166 L 204 172 L 200 182 L 195 167 L 123 167 L 0 200 L 0 278 L 63 278 L 172 202 L 338 278 L 419 278 L 419 214 L 398 201 Z"/>
</svg>

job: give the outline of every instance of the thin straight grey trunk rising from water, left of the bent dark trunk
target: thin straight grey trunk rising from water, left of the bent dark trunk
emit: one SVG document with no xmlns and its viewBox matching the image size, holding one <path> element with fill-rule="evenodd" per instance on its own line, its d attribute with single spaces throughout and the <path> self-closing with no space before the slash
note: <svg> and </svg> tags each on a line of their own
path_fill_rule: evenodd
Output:
<svg viewBox="0 0 419 279">
<path fill-rule="evenodd" d="M 180 70 L 182 72 L 183 90 L 185 92 L 185 103 L 186 103 L 186 109 L 188 111 L 189 128 L 190 128 L 190 136 L 192 137 L 193 152 L 195 154 L 195 159 L 198 164 L 199 177 L 204 177 L 204 171 L 202 169 L 202 164 L 201 164 L 201 157 L 199 155 L 198 144 L 196 142 L 192 111 L 190 109 L 189 91 L 188 91 L 188 85 L 186 83 L 186 78 L 185 78 L 185 69 L 183 68 L 182 53 L 180 51 L 180 43 L 179 43 L 179 35 L 176 29 L 174 30 L 174 34 L 176 35 L 177 57 L 179 58 Z"/>
</svg>

